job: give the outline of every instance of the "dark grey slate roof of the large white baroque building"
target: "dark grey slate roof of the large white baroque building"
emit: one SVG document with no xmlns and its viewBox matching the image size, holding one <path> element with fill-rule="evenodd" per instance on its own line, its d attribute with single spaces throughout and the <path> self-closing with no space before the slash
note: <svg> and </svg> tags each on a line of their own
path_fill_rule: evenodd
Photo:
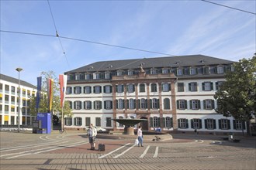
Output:
<svg viewBox="0 0 256 170">
<path fill-rule="evenodd" d="M 230 64 L 233 61 L 226 59 L 219 59 L 212 56 L 191 55 L 191 56 L 166 56 L 155 58 L 142 59 L 123 59 L 123 60 L 109 60 L 100 61 L 86 66 L 81 66 L 78 69 L 67 71 L 66 73 L 82 73 L 95 72 L 106 70 L 129 70 L 139 69 L 141 63 L 143 68 L 158 68 L 158 67 L 178 67 L 178 66 L 210 66 L 216 64 Z"/>
</svg>

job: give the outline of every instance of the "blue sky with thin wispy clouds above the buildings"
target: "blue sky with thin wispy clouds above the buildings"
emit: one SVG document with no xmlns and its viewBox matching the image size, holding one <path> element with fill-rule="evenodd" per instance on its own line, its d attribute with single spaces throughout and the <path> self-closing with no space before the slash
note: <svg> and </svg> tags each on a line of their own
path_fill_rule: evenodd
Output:
<svg viewBox="0 0 256 170">
<path fill-rule="evenodd" d="M 256 52 L 256 15 L 202 1 L 52 1 L 60 36 L 175 56 L 238 61 Z M 256 12 L 255 0 L 214 1 Z M 1 0 L 1 30 L 55 35 L 46 0 Z M 2 74 L 36 85 L 42 71 L 64 73 L 104 60 L 168 56 L 57 37 L 1 33 Z"/>
</svg>

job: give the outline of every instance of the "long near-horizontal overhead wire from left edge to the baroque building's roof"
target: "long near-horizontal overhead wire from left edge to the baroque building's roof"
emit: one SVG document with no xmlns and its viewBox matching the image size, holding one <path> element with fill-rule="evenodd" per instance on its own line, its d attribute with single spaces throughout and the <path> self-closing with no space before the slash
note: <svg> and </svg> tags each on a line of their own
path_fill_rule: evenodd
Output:
<svg viewBox="0 0 256 170">
<path fill-rule="evenodd" d="M 25 35 L 31 35 L 31 36 L 56 37 L 56 36 L 53 36 L 53 35 L 40 34 L 40 33 L 32 33 L 32 32 L 15 32 L 15 31 L 7 31 L 7 30 L 0 30 L 0 32 L 25 34 Z M 102 45 L 102 46 L 112 46 L 112 47 L 117 47 L 117 48 L 122 48 L 122 49 L 131 49 L 131 50 L 140 51 L 140 52 L 146 52 L 146 53 L 155 53 L 155 54 L 161 54 L 161 55 L 167 55 L 167 56 L 176 56 L 176 55 L 172 55 L 172 54 L 168 54 L 168 53 L 160 53 L 160 52 L 150 51 L 150 50 L 146 50 L 146 49 L 136 49 L 136 48 L 126 47 L 126 46 L 116 46 L 116 45 L 112 45 L 112 44 L 108 44 L 108 43 L 88 41 L 88 40 L 85 40 L 85 39 L 74 39 L 74 38 L 67 37 L 67 36 L 58 36 L 58 38 L 61 38 L 61 39 L 71 39 L 71 40 L 80 41 L 80 42 L 94 43 L 94 44 L 98 44 L 98 45 Z"/>
</svg>

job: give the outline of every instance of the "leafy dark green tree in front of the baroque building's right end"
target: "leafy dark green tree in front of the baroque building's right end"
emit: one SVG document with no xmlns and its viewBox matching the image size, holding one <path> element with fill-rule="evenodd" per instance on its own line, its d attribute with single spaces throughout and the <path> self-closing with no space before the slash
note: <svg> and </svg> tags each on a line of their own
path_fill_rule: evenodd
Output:
<svg viewBox="0 0 256 170">
<path fill-rule="evenodd" d="M 214 95 L 218 105 L 216 112 L 247 122 L 247 132 L 250 132 L 250 120 L 256 110 L 256 56 L 234 63 L 234 71 L 229 71 L 225 78 Z"/>
</svg>

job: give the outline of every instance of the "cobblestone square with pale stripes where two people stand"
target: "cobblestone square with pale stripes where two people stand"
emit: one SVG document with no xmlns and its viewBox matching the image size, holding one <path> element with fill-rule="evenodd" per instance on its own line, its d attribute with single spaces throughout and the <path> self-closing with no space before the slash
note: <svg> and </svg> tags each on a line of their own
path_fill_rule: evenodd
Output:
<svg viewBox="0 0 256 170">
<path fill-rule="evenodd" d="M 173 134 L 171 141 L 100 139 L 106 151 L 91 151 L 79 132 L 0 132 L 0 169 L 256 169 L 255 138 L 239 143 L 216 136 Z"/>
</svg>

